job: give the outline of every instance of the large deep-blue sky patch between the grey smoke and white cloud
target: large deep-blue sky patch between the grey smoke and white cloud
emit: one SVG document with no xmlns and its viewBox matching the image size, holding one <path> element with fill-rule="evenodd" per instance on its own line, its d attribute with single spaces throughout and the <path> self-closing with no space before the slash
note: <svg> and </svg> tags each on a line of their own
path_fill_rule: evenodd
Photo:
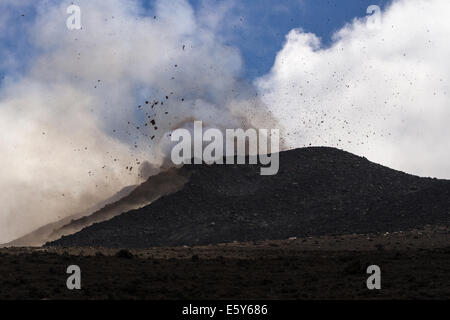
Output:
<svg viewBox="0 0 450 320">
<path fill-rule="evenodd" d="M 202 0 L 190 2 L 196 10 L 202 6 Z M 326 46 L 335 31 L 355 17 L 365 16 L 370 5 L 383 10 L 389 3 L 390 0 L 243 0 L 231 12 L 239 19 L 223 28 L 229 43 L 240 48 L 245 76 L 251 80 L 270 70 L 290 30 L 302 28 L 315 33 Z"/>
</svg>

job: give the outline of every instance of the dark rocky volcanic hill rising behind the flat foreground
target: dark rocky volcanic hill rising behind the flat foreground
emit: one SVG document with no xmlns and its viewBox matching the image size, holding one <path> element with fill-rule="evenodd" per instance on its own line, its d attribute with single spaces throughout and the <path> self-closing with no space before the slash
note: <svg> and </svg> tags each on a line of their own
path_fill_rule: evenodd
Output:
<svg viewBox="0 0 450 320">
<path fill-rule="evenodd" d="M 450 181 L 418 178 L 332 148 L 282 152 L 280 171 L 189 165 L 190 181 L 54 246 L 144 248 L 448 225 Z"/>
</svg>

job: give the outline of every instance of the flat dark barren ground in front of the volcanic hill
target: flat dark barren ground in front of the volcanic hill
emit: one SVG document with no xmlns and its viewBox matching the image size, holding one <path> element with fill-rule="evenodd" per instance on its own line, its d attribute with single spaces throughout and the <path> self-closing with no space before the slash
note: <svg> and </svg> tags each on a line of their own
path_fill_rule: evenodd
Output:
<svg viewBox="0 0 450 320">
<path fill-rule="evenodd" d="M 0 299 L 448 299 L 447 226 L 389 234 L 159 247 L 0 249 Z M 66 268 L 82 289 L 66 288 Z M 381 268 L 368 290 L 366 268 Z"/>
</svg>

